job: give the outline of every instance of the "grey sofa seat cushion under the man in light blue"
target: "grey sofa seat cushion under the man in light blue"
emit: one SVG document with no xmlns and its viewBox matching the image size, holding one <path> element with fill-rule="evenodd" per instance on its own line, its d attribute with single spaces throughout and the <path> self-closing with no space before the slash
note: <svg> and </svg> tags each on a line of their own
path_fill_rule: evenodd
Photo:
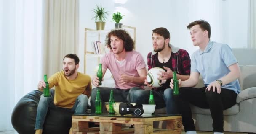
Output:
<svg viewBox="0 0 256 134">
<path fill-rule="evenodd" d="M 205 108 L 199 108 L 194 105 L 190 105 L 192 113 L 193 114 L 204 114 L 204 115 L 211 115 L 210 109 L 205 109 Z M 226 115 L 235 115 L 239 112 L 239 104 L 235 104 L 231 108 L 228 108 L 223 111 L 224 116 Z"/>
</svg>

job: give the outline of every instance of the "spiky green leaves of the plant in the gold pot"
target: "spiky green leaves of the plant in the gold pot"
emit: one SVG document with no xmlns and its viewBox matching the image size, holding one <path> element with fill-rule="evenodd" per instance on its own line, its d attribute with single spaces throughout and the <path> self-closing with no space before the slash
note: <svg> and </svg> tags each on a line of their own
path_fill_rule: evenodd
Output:
<svg viewBox="0 0 256 134">
<path fill-rule="evenodd" d="M 107 19 L 108 11 L 105 10 L 102 6 L 96 5 L 96 9 L 93 9 L 95 16 L 92 18 L 96 21 L 105 22 Z"/>
</svg>

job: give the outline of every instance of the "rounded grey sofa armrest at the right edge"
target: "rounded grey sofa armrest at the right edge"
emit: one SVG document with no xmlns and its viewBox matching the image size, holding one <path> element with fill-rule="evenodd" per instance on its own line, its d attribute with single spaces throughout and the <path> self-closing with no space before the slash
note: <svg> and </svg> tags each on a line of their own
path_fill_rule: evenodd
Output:
<svg viewBox="0 0 256 134">
<path fill-rule="evenodd" d="M 256 87 L 247 88 L 247 89 L 241 91 L 237 95 L 236 102 L 239 104 L 241 101 L 247 100 L 250 98 L 256 98 Z"/>
</svg>

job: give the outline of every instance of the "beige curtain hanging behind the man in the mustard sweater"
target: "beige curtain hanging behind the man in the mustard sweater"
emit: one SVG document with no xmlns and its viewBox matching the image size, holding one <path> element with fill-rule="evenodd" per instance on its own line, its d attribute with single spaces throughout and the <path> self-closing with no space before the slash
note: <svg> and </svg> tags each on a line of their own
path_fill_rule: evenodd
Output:
<svg viewBox="0 0 256 134">
<path fill-rule="evenodd" d="M 79 0 L 44 0 L 43 72 L 48 76 L 61 70 L 62 58 L 78 51 Z"/>
</svg>

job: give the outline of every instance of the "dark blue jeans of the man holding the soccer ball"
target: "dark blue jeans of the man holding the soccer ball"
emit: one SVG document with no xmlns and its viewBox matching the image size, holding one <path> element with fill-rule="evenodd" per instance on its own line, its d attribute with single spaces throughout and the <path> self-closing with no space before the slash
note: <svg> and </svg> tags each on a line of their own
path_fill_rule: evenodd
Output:
<svg viewBox="0 0 256 134">
<path fill-rule="evenodd" d="M 137 104 L 148 104 L 150 90 L 144 90 L 141 88 L 131 88 L 130 89 L 130 100 L 131 103 Z M 167 88 L 163 90 L 153 90 L 154 100 L 156 108 L 166 107 L 166 113 L 168 114 L 178 114 L 178 109 L 176 108 L 176 103 L 173 98 L 173 90 Z"/>
</svg>

